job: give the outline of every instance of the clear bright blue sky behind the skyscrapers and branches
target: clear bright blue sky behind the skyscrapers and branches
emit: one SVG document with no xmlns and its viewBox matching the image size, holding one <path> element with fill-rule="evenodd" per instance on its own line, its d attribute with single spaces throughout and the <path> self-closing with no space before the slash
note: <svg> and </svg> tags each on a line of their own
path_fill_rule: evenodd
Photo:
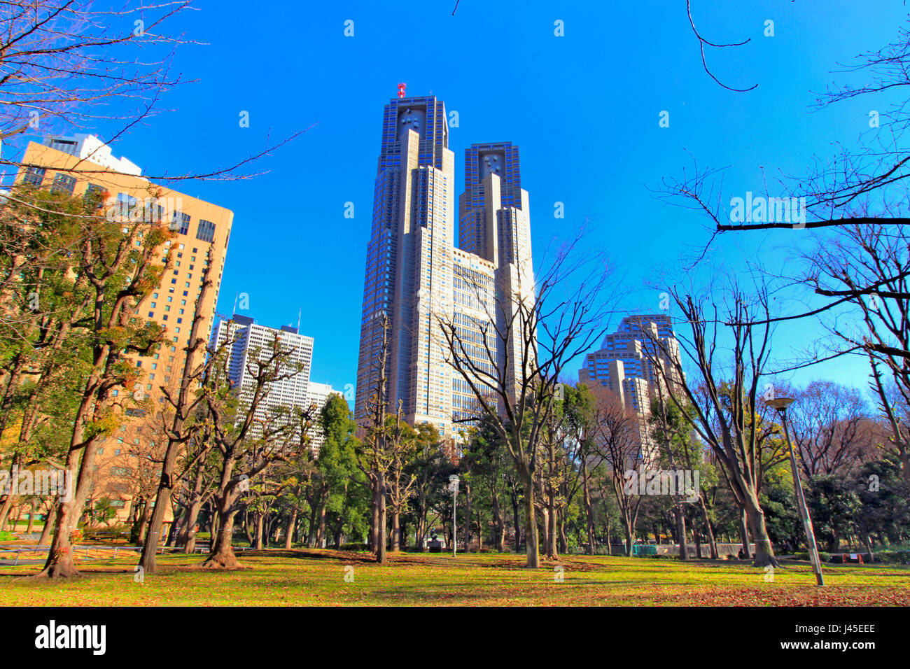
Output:
<svg viewBox="0 0 910 669">
<path fill-rule="evenodd" d="M 746 46 L 710 49 L 714 73 L 748 93 L 717 86 L 702 69 L 682 0 L 646 3 L 271 2 L 199 0 L 171 32 L 180 46 L 174 70 L 195 80 L 162 99 L 162 111 L 114 147 L 147 174 L 223 167 L 313 126 L 250 171 L 244 181 L 205 181 L 179 189 L 234 211 L 218 311 L 249 295 L 258 322 L 295 323 L 315 338 L 311 379 L 336 388 L 355 382 L 364 258 L 382 106 L 397 93 L 430 94 L 459 112 L 451 129 L 458 188 L 463 150 L 472 142 L 521 147 L 522 186 L 530 193 L 535 256 L 587 217 L 588 243 L 614 259 L 632 290 L 621 309 L 656 307 L 656 269 L 709 238 L 697 214 L 668 206 L 650 189 L 700 165 L 727 167 L 724 192 L 763 190 L 782 170 L 800 173 L 832 143 L 853 143 L 875 108 L 857 100 L 813 113 L 814 92 L 835 79 L 837 62 L 895 38 L 900 2 L 824 4 L 693 0 L 703 35 Z M 312 8 L 310 8 L 312 5 Z M 763 36 L 764 22 L 774 36 Z M 354 36 L 344 35 L 345 21 Z M 562 37 L 554 21 L 564 22 Z M 842 76 L 836 76 L 844 81 Z M 659 127 L 659 114 L 670 127 Z M 238 116 L 248 111 L 250 127 Z M 99 127 L 104 137 L 106 128 Z M 167 137 L 167 140 L 163 138 Z M 772 186 L 773 191 L 773 186 Z M 344 218 L 346 202 L 355 218 Z M 565 218 L 554 218 L 554 203 Z M 713 260 L 780 264 L 780 231 L 726 236 Z M 255 269 L 255 270 L 254 270 Z M 786 357 L 812 328 L 781 329 Z M 864 385 L 864 362 L 838 362 L 797 375 Z"/>
</svg>

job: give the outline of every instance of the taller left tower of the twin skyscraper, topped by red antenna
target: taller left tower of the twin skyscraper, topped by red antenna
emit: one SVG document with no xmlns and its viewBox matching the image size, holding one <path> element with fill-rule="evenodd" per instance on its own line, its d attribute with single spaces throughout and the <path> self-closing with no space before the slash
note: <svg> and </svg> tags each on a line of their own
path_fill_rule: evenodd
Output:
<svg viewBox="0 0 910 669">
<path fill-rule="evenodd" d="M 409 421 L 432 422 L 440 429 L 451 418 L 451 372 L 439 350 L 440 326 L 430 305 L 441 304 L 451 289 L 454 166 L 445 105 L 433 96 L 389 101 L 360 323 L 359 419 L 376 391 L 383 313 L 389 318 L 389 411 L 398 411 L 400 401 Z"/>
</svg>

